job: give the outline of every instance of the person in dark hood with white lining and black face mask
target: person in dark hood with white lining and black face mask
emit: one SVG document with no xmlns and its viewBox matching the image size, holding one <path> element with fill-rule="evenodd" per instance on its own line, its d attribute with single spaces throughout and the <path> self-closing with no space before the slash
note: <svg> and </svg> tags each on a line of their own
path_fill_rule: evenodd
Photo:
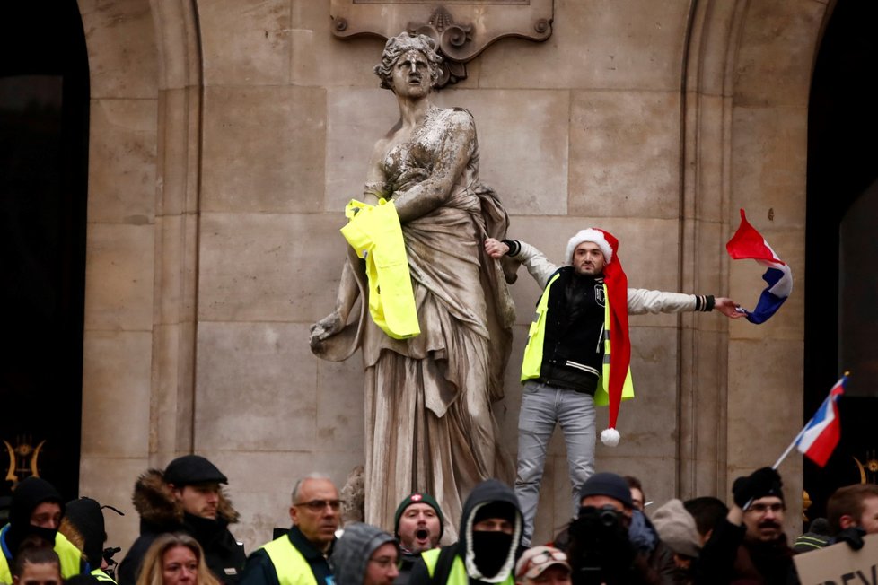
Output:
<svg viewBox="0 0 878 585">
<path fill-rule="evenodd" d="M 477 485 L 463 504 L 460 540 L 421 554 L 410 585 L 513 585 L 523 518 L 512 488 L 496 479 Z"/>
</svg>

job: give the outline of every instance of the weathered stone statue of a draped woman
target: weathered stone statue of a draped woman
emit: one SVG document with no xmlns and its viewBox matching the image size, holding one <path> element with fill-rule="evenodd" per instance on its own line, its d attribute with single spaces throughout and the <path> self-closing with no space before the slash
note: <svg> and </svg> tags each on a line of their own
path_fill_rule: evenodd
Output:
<svg viewBox="0 0 878 585">
<path fill-rule="evenodd" d="M 335 310 L 312 326 L 314 354 L 343 360 L 361 347 L 365 369 L 365 521 L 393 526 L 409 493 L 436 497 L 449 520 L 470 489 L 505 477 L 491 403 L 503 397 L 514 306 L 500 265 L 484 253 L 487 236 L 508 223 L 494 192 L 479 183 L 472 115 L 429 97 L 442 57 L 423 35 L 388 40 L 375 66 L 399 103 L 399 121 L 375 144 L 367 203 L 396 206 L 421 334 L 393 339 L 356 298 L 368 292 L 363 261 L 351 253 Z"/>
</svg>

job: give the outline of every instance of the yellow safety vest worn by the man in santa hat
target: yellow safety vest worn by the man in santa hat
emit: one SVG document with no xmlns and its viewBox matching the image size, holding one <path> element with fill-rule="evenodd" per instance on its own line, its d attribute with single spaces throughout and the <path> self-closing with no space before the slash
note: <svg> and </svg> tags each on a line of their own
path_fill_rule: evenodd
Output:
<svg viewBox="0 0 878 585">
<path fill-rule="evenodd" d="M 522 382 L 540 378 L 542 366 L 542 346 L 546 339 L 546 319 L 549 313 L 549 290 L 552 284 L 558 280 L 559 274 L 552 276 L 549 284 L 537 303 L 536 320 L 531 323 L 528 332 L 527 347 L 524 348 L 524 360 L 522 361 Z M 607 294 L 607 285 L 603 284 L 603 365 L 601 367 L 601 379 L 598 380 L 598 388 L 594 392 L 594 404 L 607 406 L 610 404 L 610 395 L 607 386 L 610 383 L 610 296 Z M 631 368 L 625 376 L 625 385 L 622 387 L 622 400 L 634 397 L 634 382 L 631 380 Z"/>
</svg>

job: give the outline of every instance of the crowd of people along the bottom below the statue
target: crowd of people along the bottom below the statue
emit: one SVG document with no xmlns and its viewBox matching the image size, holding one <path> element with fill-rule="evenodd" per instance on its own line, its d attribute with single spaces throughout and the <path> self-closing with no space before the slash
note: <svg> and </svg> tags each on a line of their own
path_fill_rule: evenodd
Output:
<svg viewBox="0 0 878 585">
<path fill-rule="evenodd" d="M 449 520 L 432 495 L 409 494 L 393 526 L 343 525 L 338 488 L 313 473 L 293 487 L 291 528 L 248 556 L 229 531 L 238 515 L 226 483 L 198 455 L 141 476 L 134 493 L 140 537 L 114 575 L 100 503 L 65 503 L 47 481 L 29 477 L 13 491 L 9 521 L 0 530 L 0 583 L 786 585 L 800 582 L 795 554 L 836 543 L 858 550 L 866 534 L 878 532 L 878 485 L 838 489 L 827 518 L 813 521 L 814 531 L 790 544 L 783 482 L 770 467 L 737 478 L 728 506 L 704 496 L 672 499 L 650 513 L 637 478 L 601 472 L 584 481 L 575 518 L 549 543 L 523 544 L 518 497 L 489 479 L 466 498 L 457 542 L 441 546 Z"/>
</svg>

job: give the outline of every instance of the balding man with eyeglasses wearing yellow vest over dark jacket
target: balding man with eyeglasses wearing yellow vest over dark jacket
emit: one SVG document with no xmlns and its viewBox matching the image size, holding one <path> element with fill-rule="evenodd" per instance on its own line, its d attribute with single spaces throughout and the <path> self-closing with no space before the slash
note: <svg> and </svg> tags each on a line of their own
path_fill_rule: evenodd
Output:
<svg viewBox="0 0 878 585">
<path fill-rule="evenodd" d="M 290 506 L 293 527 L 250 554 L 241 585 L 332 585 L 327 559 L 342 503 L 327 476 L 311 474 L 297 481 Z"/>
</svg>

